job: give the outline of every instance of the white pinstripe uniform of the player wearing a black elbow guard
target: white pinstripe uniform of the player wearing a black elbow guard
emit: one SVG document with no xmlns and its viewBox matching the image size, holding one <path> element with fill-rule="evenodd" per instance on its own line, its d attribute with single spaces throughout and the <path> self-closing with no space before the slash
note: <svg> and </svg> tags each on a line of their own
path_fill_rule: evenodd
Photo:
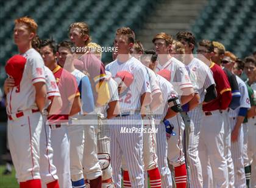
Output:
<svg viewBox="0 0 256 188">
<path fill-rule="evenodd" d="M 155 124 L 158 127 L 158 131 L 156 134 L 158 168 L 161 173 L 162 187 L 172 187 L 171 171 L 169 170 L 168 161 L 167 161 L 168 144 L 166 139 L 165 124 L 163 124 L 163 118 L 165 118 L 165 115 L 168 110 L 168 104 L 167 104 L 168 99 L 173 96 L 177 96 L 177 93 L 174 90 L 172 84 L 162 76 L 157 75 L 157 81 L 160 86 L 160 89 L 162 90 L 162 96 L 163 96 L 163 104 L 153 112 L 154 118 L 155 118 Z"/>
</svg>

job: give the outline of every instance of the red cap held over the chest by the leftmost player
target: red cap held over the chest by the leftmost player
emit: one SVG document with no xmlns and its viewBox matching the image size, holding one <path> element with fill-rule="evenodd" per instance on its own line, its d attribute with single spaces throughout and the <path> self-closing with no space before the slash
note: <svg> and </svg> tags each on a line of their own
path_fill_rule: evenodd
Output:
<svg viewBox="0 0 256 188">
<path fill-rule="evenodd" d="M 15 81 L 15 86 L 18 86 L 21 82 L 24 67 L 27 59 L 21 55 L 14 55 L 10 58 L 5 65 L 5 72 L 12 76 Z"/>
</svg>

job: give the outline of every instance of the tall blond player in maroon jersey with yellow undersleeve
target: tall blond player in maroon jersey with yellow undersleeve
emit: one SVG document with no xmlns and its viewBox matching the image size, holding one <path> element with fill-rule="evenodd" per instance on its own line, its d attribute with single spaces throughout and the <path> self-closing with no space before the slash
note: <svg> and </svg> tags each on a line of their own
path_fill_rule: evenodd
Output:
<svg viewBox="0 0 256 188">
<path fill-rule="evenodd" d="M 95 107 L 104 106 L 110 99 L 107 82 L 104 82 L 106 78 L 105 69 L 97 56 L 87 48 L 91 41 L 88 25 L 85 22 L 75 22 L 69 25 L 69 39 L 78 49 L 83 49 L 80 51 L 75 50 L 77 58 L 80 61 L 74 62 L 74 66 L 76 69 L 85 73 L 85 75 L 88 75 L 93 89 Z M 98 113 L 99 111 L 93 113 L 93 119 L 97 119 L 97 121 Z M 85 132 L 87 134 L 85 138 L 88 138 L 88 141 L 85 141 L 84 146 L 84 177 L 90 180 L 91 186 L 101 186 L 102 170 L 97 158 L 98 152 L 96 146 L 98 124 L 90 125 L 88 129 L 90 130 Z M 90 155 L 90 153 L 93 153 L 93 155 Z M 91 159 L 88 160 L 88 158 Z"/>
</svg>

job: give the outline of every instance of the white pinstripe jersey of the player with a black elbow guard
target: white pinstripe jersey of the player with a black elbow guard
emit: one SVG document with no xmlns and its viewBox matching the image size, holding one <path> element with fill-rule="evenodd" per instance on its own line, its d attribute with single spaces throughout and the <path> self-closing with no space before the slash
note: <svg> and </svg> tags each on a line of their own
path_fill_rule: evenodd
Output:
<svg viewBox="0 0 256 188">
<path fill-rule="evenodd" d="M 156 119 L 163 119 L 168 110 L 168 99 L 177 96 L 177 92 L 170 82 L 160 75 L 157 75 L 157 81 L 159 83 L 160 89 L 162 91 L 163 103 L 154 111 L 154 115 L 157 116 Z"/>
</svg>

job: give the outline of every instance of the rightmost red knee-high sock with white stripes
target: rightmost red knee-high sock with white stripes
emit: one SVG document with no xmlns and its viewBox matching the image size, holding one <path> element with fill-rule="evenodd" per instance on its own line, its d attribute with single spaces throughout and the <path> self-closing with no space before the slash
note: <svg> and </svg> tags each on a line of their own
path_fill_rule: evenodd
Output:
<svg viewBox="0 0 256 188">
<path fill-rule="evenodd" d="M 186 188 L 187 185 L 187 169 L 186 164 L 174 167 L 175 171 L 175 182 L 177 188 Z"/>
</svg>

